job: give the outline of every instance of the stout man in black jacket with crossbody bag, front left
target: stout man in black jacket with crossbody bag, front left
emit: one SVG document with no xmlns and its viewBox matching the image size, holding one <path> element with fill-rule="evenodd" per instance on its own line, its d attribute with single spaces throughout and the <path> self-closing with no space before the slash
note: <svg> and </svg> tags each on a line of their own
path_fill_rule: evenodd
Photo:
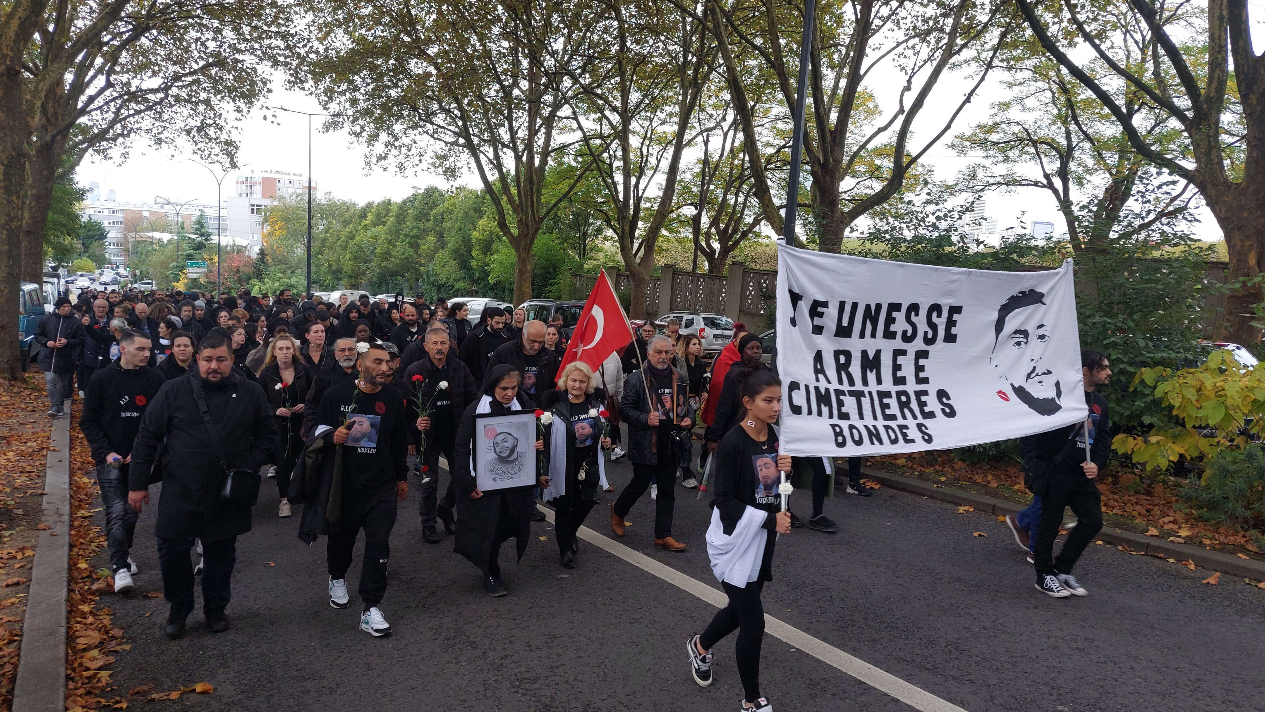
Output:
<svg viewBox="0 0 1265 712">
<path fill-rule="evenodd" d="M 205 395 L 210 427 L 195 393 Z M 214 431 L 214 433 L 213 433 Z M 229 629 L 224 615 L 237 563 L 237 537 L 250 531 L 250 506 L 221 494 L 228 470 L 256 473 L 268 462 L 276 436 L 272 408 L 263 388 L 233 371 L 231 343 L 213 331 L 199 344 L 196 371 L 168 381 L 140 421 L 132 451 L 128 503 L 139 513 L 149 502 L 149 476 L 163 443 L 163 486 L 158 501 L 158 565 L 163 594 L 171 605 L 164 634 L 185 635 L 194 611 L 194 540 L 202 541 L 202 611 L 211 632 Z M 178 458 L 178 467 L 171 467 Z M 221 464 L 223 460 L 223 464 Z M 235 479 L 244 482 L 247 478 Z M 258 487 L 258 479 L 253 484 Z"/>
</svg>

